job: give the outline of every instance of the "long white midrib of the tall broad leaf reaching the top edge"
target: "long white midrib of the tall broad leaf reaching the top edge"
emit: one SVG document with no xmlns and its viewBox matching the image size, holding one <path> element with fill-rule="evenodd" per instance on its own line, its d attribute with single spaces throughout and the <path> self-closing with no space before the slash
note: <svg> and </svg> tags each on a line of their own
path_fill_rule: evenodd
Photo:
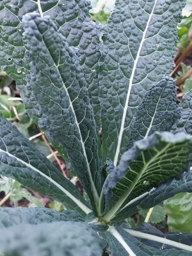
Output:
<svg viewBox="0 0 192 256">
<path fill-rule="evenodd" d="M 140 52 L 141 52 L 141 49 L 143 47 L 143 42 L 145 41 L 145 35 L 147 33 L 147 29 L 148 29 L 148 25 L 150 23 L 150 20 L 152 19 L 152 15 L 154 13 L 154 8 L 156 7 L 156 3 L 157 3 L 157 0 L 155 0 L 152 12 L 150 13 L 150 15 L 148 17 L 147 26 L 145 28 L 145 31 L 143 32 L 141 44 L 140 44 L 140 47 L 138 49 L 138 54 L 136 56 L 136 59 L 134 61 L 134 65 L 133 65 L 133 68 L 132 68 L 132 73 L 131 73 L 131 77 L 130 77 L 130 81 L 129 81 L 129 89 L 128 89 L 128 92 L 127 92 L 127 98 L 126 98 L 126 101 L 125 101 L 124 113 L 123 113 L 123 116 L 122 116 L 122 124 L 121 124 L 121 127 L 120 127 L 120 132 L 118 134 L 118 142 L 117 142 L 117 146 L 116 146 L 115 158 L 114 158 L 114 161 L 113 161 L 115 166 L 118 162 L 118 156 L 120 154 L 120 146 L 121 146 L 121 143 L 122 143 L 122 137 L 123 137 L 123 133 L 124 133 L 125 118 L 126 118 L 126 115 L 127 115 L 127 109 L 128 109 L 128 104 L 129 104 L 129 97 L 131 95 L 132 81 L 134 79 L 134 73 L 136 71 L 138 60 L 140 58 Z"/>
</svg>

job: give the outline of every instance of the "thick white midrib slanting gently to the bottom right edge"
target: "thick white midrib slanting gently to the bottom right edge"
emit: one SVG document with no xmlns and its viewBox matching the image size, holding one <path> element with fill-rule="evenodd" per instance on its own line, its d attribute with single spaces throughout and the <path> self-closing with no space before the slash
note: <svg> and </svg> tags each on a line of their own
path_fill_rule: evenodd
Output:
<svg viewBox="0 0 192 256">
<path fill-rule="evenodd" d="M 140 237 L 140 238 L 144 238 L 144 239 L 147 239 L 147 240 L 152 240 L 152 241 L 162 243 L 162 244 L 168 244 L 170 246 L 174 246 L 174 247 L 180 248 L 182 250 L 192 252 L 192 246 L 189 246 L 187 244 L 178 243 L 178 242 L 172 241 L 172 240 L 164 238 L 164 237 L 154 236 L 154 235 L 151 235 L 151 234 L 147 234 L 147 233 L 144 233 L 144 232 L 140 232 L 140 231 L 136 231 L 136 230 L 132 230 L 132 229 L 128 229 L 128 228 L 124 228 L 124 230 L 127 233 L 129 233 L 129 234 L 131 234 L 132 236 L 135 236 L 135 237 Z"/>
</svg>

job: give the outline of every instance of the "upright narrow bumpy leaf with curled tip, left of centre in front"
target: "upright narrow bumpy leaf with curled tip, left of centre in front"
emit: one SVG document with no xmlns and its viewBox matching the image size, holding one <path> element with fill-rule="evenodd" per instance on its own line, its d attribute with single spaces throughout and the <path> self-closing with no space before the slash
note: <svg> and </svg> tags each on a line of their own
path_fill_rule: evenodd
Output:
<svg viewBox="0 0 192 256">
<path fill-rule="evenodd" d="M 23 21 L 28 49 L 26 63 L 31 68 L 31 76 L 26 77 L 27 90 L 40 106 L 38 126 L 50 141 L 67 152 L 97 212 L 100 190 L 97 132 L 77 56 L 51 19 L 31 13 Z M 25 97 L 28 99 L 28 95 Z"/>
</svg>

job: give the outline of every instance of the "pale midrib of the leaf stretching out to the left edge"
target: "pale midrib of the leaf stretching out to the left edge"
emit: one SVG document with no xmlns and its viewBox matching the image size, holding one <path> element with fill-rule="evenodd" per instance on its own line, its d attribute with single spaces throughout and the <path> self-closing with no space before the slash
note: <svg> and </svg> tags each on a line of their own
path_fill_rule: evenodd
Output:
<svg viewBox="0 0 192 256">
<path fill-rule="evenodd" d="M 89 214 L 90 212 L 92 212 L 92 210 L 90 208 L 88 208 L 86 205 L 84 205 L 80 200 L 78 200 L 75 196 L 73 196 L 72 194 L 70 194 L 65 188 L 63 188 L 60 184 L 58 184 L 55 180 L 53 180 L 51 177 L 47 176 L 45 173 L 40 172 L 40 170 L 36 169 L 34 166 L 32 166 L 31 164 L 26 163 L 25 161 L 22 161 L 22 159 L 19 159 L 16 156 L 13 156 L 12 154 L 10 154 L 9 152 L 6 152 L 4 150 L 2 150 L 0 148 L 0 152 L 6 153 L 8 154 L 8 156 L 13 157 L 15 159 L 17 159 L 17 161 L 19 161 L 20 163 L 28 166 L 29 168 L 31 168 L 34 172 L 40 173 L 40 175 L 42 175 L 42 177 L 44 177 L 45 179 L 49 180 L 49 182 L 51 182 L 52 184 L 54 184 L 54 186 L 56 186 L 58 189 L 60 189 L 65 195 L 68 196 L 68 198 L 70 198 L 72 201 L 74 201 L 74 203 L 81 208 L 86 214 Z"/>
</svg>

